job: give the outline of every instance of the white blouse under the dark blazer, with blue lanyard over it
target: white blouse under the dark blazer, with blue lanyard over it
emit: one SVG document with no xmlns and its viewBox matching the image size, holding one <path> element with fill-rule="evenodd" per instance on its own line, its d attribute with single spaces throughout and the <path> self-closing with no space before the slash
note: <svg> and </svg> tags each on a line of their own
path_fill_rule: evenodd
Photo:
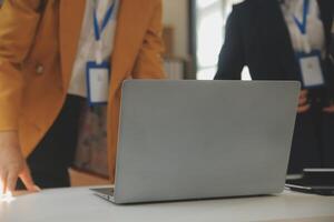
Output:
<svg viewBox="0 0 334 222">
<path fill-rule="evenodd" d="M 305 36 L 308 47 L 304 46 L 303 34 L 294 21 L 294 17 L 296 17 L 301 22 L 303 21 L 304 0 L 285 0 L 281 4 L 281 8 L 289 31 L 294 50 L 302 52 L 307 52 L 308 50 L 321 50 L 323 57 L 325 57 L 325 30 L 320 18 L 317 1 L 310 0 Z M 310 49 L 307 50 L 307 48 Z"/>
</svg>

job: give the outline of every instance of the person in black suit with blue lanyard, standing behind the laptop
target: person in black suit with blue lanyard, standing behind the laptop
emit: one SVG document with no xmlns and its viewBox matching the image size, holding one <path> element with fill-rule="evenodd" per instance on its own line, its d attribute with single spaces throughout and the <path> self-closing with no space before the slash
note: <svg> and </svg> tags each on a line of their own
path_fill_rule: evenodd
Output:
<svg viewBox="0 0 334 222">
<path fill-rule="evenodd" d="M 334 168 L 333 10 L 333 0 L 246 0 L 227 21 L 216 80 L 240 80 L 247 65 L 253 80 L 303 84 L 289 174 Z"/>
</svg>

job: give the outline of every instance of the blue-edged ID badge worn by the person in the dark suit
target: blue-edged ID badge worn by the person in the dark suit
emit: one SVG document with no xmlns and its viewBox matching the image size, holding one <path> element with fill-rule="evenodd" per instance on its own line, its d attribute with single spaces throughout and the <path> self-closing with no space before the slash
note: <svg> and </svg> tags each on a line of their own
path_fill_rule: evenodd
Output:
<svg viewBox="0 0 334 222">
<path fill-rule="evenodd" d="M 297 53 L 297 59 L 301 65 L 304 88 L 318 88 L 325 84 L 320 51 L 312 51 L 311 53 Z"/>
</svg>

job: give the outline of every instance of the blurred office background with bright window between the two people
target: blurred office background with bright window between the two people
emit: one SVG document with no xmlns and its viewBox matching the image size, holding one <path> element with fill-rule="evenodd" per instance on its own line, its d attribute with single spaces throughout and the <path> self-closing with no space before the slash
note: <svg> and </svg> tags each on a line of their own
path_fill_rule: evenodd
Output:
<svg viewBox="0 0 334 222">
<path fill-rule="evenodd" d="M 214 78 L 227 17 L 240 1 L 164 0 L 165 58 L 170 79 Z M 250 79 L 247 68 L 243 79 Z"/>
</svg>

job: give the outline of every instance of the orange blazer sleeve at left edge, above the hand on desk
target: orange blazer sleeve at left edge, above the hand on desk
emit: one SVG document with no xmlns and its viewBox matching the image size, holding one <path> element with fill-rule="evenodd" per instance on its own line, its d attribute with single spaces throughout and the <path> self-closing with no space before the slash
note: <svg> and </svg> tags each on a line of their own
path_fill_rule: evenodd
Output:
<svg viewBox="0 0 334 222">
<path fill-rule="evenodd" d="M 40 1 L 6 0 L 0 10 L 0 131 L 18 130 L 21 65 L 36 36 Z"/>
</svg>

